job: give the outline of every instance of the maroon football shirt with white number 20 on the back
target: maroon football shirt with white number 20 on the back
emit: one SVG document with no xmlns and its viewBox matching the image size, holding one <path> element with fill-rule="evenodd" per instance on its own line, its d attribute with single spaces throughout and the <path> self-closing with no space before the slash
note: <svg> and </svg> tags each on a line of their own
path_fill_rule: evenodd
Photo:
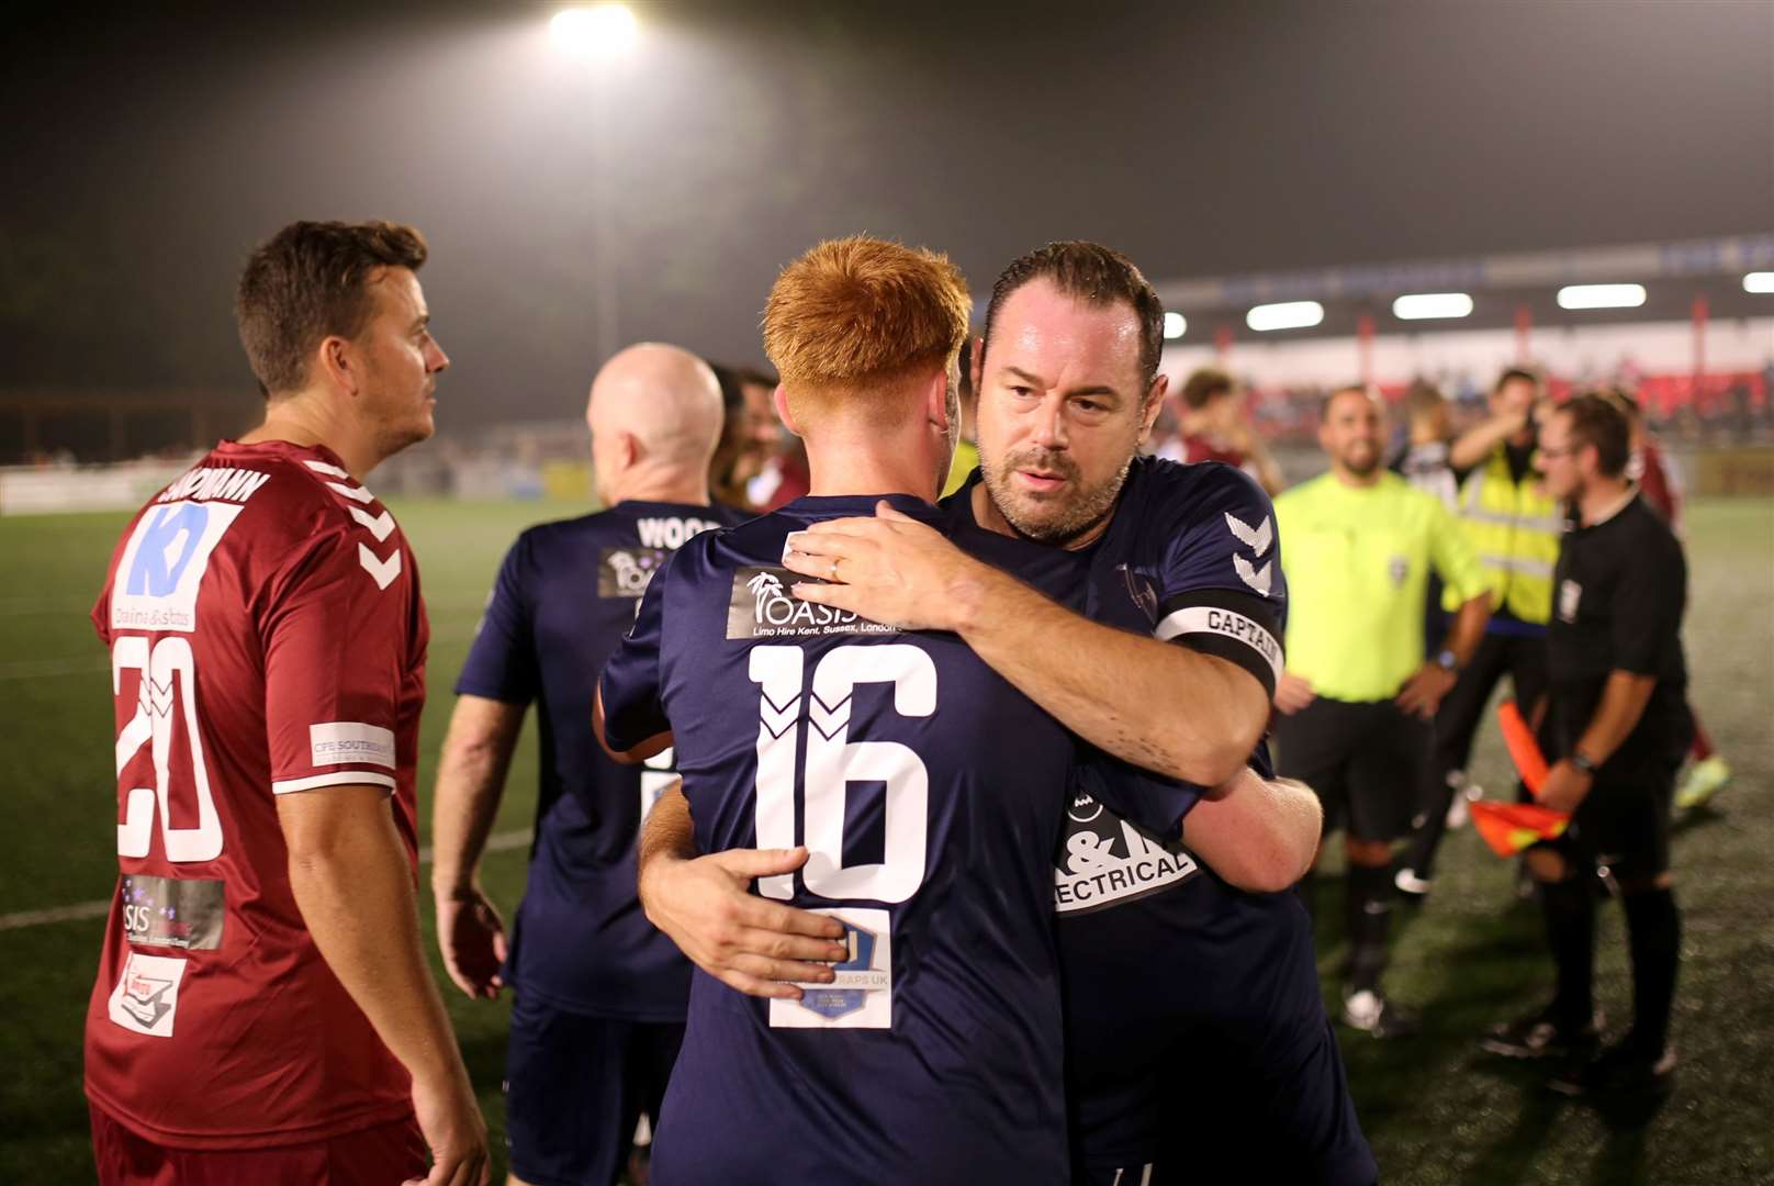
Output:
<svg viewBox="0 0 1774 1186">
<path fill-rule="evenodd" d="M 87 1095 L 199 1149 L 408 1113 L 406 1071 L 302 921 L 277 820 L 282 794 L 387 787 L 417 877 L 429 630 L 394 517 L 323 447 L 222 442 L 131 520 L 92 620 L 119 884 Z"/>
</svg>

